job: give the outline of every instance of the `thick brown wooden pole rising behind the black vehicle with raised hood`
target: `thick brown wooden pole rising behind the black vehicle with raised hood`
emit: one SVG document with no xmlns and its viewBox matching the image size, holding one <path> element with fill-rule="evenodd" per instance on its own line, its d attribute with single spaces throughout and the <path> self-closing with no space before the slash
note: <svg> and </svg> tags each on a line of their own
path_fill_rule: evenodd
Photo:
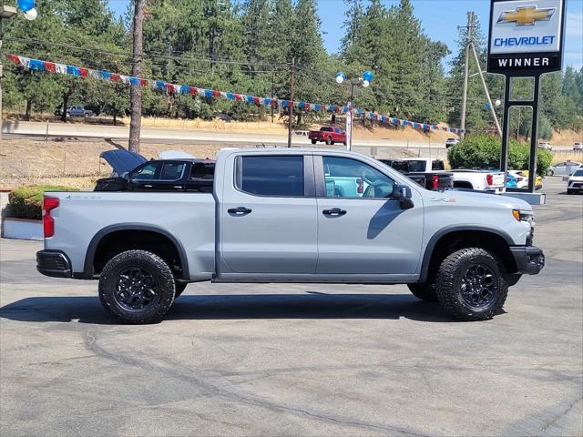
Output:
<svg viewBox="0 0 583 437">
<path fill-rule="evenodd" d="M 144 5 L 146 0 L 134 0 L 134 47 L 131 61 L 131 76 L 139 77 L 142 73 L 142 45 L 144 23 Z M 129 86 L 129 142 L 130 152 L 139 152 L 139 133 L 142 124 L 142 90 L 140 85 Z"/>
</svg>

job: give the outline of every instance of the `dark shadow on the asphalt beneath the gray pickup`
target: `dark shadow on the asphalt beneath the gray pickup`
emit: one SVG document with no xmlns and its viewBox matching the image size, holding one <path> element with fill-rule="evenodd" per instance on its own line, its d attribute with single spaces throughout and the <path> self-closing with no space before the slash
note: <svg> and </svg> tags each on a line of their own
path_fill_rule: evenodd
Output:
<svg viewBox="0 0 583 437">
<path fill-rule="evenodd" d="M 78 320 L 118 324 L 97 297 L 26 298 L 0 308 L 0 318 L 15 321 Z M 437 303 L 410 294 L 236 294 L 183 295 L 164 320 L 239 319 L 410 319 L 455 322 Z"/>
</svg>

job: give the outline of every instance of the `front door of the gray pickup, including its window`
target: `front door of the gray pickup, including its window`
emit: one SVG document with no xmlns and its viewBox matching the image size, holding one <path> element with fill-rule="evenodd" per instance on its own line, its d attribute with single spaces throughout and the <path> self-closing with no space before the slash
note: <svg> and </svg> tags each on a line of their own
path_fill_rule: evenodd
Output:
<svg viewBox="0 0 583 437">
<path fill-rule="evenodd" d="M 357 158 L 314 155 L 318 274 L 414 274 L 423 239 L 421 196 L 393 198 L 394 180 Z M 413 187 L 413 185 L 410 185 Z"/>
</svg>

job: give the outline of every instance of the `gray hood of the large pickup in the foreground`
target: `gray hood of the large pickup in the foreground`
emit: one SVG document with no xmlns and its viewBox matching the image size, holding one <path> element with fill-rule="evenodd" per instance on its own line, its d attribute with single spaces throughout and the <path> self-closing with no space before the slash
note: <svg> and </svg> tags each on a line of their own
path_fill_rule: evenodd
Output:
<svg viewBox="0 0 583 437">
<path fill-rule="evenodd" d="M 480 207 L 491 206 L 492 208 L 507 208 L 532 210 L 532 206 L 519 198 L 501 196 L 494 193 L 476 190 L 447 189 L 443 192 L 429 191 L 429 202 L 449 202 L 459 203 L 460 205 L 476 205 Z"/>
</svg>

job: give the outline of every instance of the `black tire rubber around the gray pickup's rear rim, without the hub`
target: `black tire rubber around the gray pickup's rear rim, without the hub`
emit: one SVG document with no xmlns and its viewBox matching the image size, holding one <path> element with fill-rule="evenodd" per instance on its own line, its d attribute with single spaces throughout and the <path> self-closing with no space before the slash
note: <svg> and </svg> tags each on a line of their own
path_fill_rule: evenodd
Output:
<svg viewBox="0 0 583 437">
<path fill-rule="evenodd" d="M 147 269 L 156 284 L 157 299 L 143 310 L 128 310 L 115 297 L 121 273 L 134 268 Z M 158 323 L 172 305 L 175 290 L 174 275 L 166 261 L 146 250 L 127 250 L 109 259 L 99 278 L 101 304 L 124 323 Z"/>
</svg>

